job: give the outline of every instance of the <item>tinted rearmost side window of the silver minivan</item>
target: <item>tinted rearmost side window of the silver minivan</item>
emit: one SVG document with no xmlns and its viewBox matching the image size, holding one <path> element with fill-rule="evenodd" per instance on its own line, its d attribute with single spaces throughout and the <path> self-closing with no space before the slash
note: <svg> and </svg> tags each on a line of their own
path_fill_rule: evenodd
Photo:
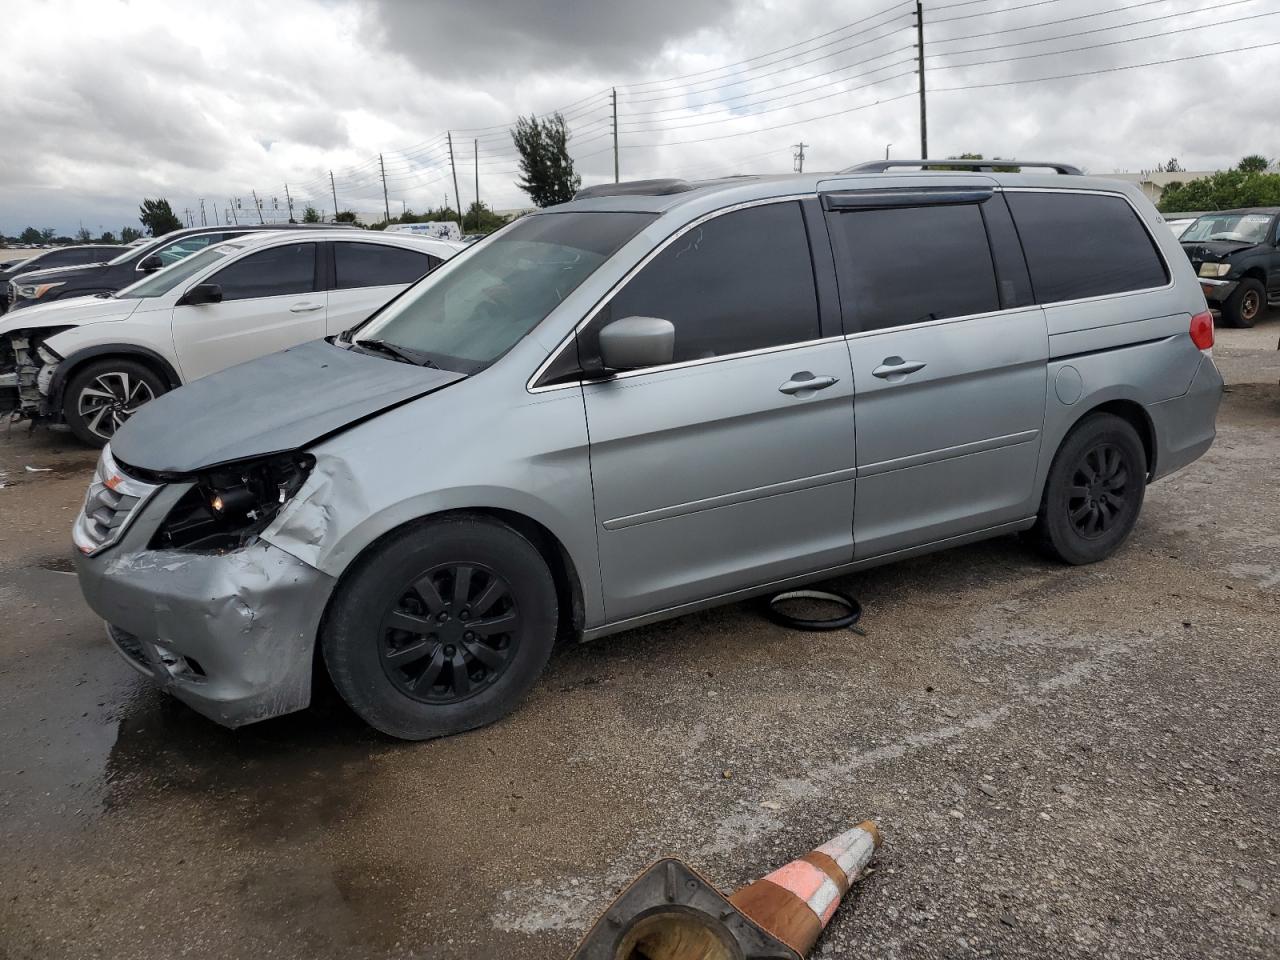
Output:
<svg viewBox="0 0 1280 960">
<path fill-rule="evenodd" d="M 1165 262 L 1128 201 L 1093 193 L 1006 196 L 1041 303 L 1169 283 Z"/>
</svg>

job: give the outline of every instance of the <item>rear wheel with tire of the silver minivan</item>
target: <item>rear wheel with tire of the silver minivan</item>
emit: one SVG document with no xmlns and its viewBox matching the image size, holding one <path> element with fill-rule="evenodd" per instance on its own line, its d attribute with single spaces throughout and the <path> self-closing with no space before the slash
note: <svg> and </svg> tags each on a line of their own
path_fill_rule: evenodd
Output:
<svg viewBox="0 0 1280 960">
<path fill-rule="evenodd" d="M 1146 492 L 1147 453 L 1138 431 L 1112 413 L 1091 413 L 1053 457 L 1032 532 L 1064 563 L 1097 563 L 1128 539 Z"/>
</svg>

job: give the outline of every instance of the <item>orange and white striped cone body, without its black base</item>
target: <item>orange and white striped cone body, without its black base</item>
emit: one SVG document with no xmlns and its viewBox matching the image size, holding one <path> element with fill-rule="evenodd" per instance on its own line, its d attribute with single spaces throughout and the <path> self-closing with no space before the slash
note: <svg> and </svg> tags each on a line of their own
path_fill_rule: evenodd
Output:
<svg viewBox="0 0 1280 960">
<path fill-rule="evenodd" d="M 818 942 L 841 897 L 879 844 L 876 824 L 864 820 L 799 860 L 742 887 L 728 901 L 804 956 Z"/>
</svg>

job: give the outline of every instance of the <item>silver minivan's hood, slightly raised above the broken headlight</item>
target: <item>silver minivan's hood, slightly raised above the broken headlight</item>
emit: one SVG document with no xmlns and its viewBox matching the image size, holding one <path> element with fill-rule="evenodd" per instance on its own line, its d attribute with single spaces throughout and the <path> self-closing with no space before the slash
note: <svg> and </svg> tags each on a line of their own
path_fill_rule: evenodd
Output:
<svg viewBox="0 0 1280 960">
<path fill-rule="evenodd" d="M 193 474 L 294 451 L 465 378 L 312 340 L 195 380 L 111 439 L 122 466 Z"/>
</svg>

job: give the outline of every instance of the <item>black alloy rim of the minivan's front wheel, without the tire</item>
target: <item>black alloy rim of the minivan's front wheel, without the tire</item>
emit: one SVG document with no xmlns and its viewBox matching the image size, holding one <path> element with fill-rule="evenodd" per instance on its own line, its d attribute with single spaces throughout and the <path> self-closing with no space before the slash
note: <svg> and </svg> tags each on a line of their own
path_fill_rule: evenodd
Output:
<svg viewBox="0 0 1280 960">
<path fill-rule="evenodd" d="M 428 704 L 454 704 L 494 684 L 520 646 L 520 611 L 486 566 L 443 563 L 404 586 L 383 617 L 383 669 Z"/>
</svg>

